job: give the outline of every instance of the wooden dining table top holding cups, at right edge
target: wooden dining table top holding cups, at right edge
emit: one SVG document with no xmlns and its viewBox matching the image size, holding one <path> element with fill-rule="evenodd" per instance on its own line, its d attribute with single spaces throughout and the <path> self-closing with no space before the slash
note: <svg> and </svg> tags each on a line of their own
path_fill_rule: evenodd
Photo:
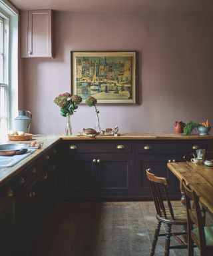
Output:
<svg viewBox="0 0 213 256">
<path fill-rule="evenodd" d="M 168 163 L 168 169 L 200 197 L 200 203 L 213 215 L 213 167 L 194 163 Z"/>
</svg>

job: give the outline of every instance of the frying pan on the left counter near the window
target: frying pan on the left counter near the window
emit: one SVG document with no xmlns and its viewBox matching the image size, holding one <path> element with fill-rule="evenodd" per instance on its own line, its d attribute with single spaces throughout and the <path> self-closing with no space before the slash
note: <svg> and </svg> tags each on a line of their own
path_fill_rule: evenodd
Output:
<svg viewBox="0 0 213 256">
<path fill-rule="evenodd" d="M 21 155 L 27 153 L 27 144 L 0 144 L 0 155 Z"/>
</svg>

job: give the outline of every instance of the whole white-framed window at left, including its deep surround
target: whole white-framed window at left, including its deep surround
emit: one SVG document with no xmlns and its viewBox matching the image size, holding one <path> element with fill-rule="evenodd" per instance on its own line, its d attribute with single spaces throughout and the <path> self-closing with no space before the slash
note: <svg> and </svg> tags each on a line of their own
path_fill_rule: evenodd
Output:
<svg viewBox="0 0 213 256">
<path fill-rule="evenodd" d="M 19 11 L 0 0 L 0 140 L 7 139 L 18 110 Z"/>
</svg>

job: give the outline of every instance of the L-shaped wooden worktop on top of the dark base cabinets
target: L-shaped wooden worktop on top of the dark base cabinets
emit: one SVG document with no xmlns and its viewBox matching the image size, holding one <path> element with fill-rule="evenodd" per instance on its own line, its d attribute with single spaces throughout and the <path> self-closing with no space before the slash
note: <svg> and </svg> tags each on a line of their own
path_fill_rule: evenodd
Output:
<svg viewBox="0 0 213 256">
<path fill-rule="evenodd" d="M 213 135 L 189 135 L 183 136 L 182 134 L 176 133 L 121 133 L 118 136 L 101 136 L 96 137 L 86 137 L 79 135 L 33 135 L 33 140 L 43 142 L 42 149 L 37 149 L 34 153 L 14 165 L 13 167 L 0 167 L 0 185 L 3 185 L 5 182 L 9 181 L 11 178 L 15 177 L 17 173 L 22 171 L 25 167 L 29 166 L 33 161 L 36 161 L 38 157 L 45 154 L 51 147 L 56 145 L 59 141 L 68 141 L 68 140 L 79 140 L 79 141 L 100 141 L 100 140 L 138 140 L 138 141 L 178 141 L 178 140 L 212 140 Z M 6 141 L 3 143 L 15 143 L 15 141 Z M 20 143 L 20 141 L 17 141 Z M 29 144 L 29 141 L 21 141 L 21 143 Z"/>
</svg>

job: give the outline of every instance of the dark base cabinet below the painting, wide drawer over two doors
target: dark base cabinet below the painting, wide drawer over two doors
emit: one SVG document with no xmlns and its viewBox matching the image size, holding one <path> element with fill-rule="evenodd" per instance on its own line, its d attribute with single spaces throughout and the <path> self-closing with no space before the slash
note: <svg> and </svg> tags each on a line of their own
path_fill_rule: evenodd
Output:
<svg viewBox="0 0 213 256">
<path fill-rule="evenodd" d="M 132 147 L 119 141 L 65 141 L 61 173 L 63 199 L 99 199 L 128 195 L 131 189 Z"/>
</svg>

